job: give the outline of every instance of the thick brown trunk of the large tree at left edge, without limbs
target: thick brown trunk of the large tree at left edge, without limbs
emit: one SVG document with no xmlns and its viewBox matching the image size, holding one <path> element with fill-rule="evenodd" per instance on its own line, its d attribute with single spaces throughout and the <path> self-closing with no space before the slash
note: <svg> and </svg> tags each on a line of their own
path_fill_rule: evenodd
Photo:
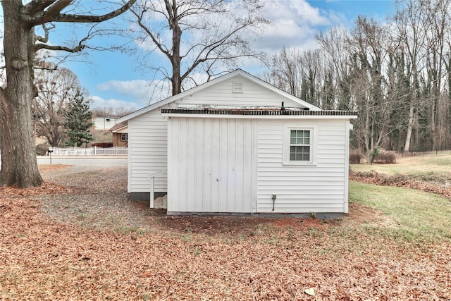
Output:
<svg viewBox="0 0 451 301">
<path fill-rule="evenodd" d="M 34 29 L 20 19 L 22 1 L 1 1 L 4 11 L 6 88 L 0 92 L 1 186 L 27 188 L 43 180 L 37 168 L 32 99 Z"/>
</svg>

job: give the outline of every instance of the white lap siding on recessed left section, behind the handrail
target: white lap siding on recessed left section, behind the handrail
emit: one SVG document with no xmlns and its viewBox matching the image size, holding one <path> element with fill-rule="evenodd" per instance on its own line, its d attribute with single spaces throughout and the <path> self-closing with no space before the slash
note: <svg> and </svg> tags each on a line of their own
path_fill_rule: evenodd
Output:
<svg viewBox="0 0 451 301">
<path fill-rule="evenodd" d="M 149 173 L 168 168 L 168 125 L 160 110 L 150 111 L 128 121 L 128 192 L 149 192 Z M 155 192 L 167 192 L 167 176 L 155 178 Z"/>
</svg>

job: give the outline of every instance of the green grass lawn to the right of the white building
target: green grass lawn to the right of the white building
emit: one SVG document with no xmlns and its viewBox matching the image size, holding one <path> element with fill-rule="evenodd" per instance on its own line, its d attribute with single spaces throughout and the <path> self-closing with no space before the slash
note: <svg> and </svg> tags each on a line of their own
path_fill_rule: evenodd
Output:
<svg viewBox="0 0 451 301">
<path fill-rule="evenodd" d="M 451 155 L 407 157 L 397 164 L 351 164 L 351 170 L 446 180 L 451 178 Z M 393 235 L 428 241 L 451 238 L 451 201 L 445 197 L 408 188 L 351 182 L 350 202 L 368 205 L 390 217 L 395 225 L 390 229 Z"/>
</svg>

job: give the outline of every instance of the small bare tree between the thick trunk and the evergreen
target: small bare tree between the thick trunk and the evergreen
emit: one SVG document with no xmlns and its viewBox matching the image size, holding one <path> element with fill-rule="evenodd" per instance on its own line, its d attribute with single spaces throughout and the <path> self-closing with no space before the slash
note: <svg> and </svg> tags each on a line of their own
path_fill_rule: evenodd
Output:
<svg viewBox="0 0 451 301">
<path fill-rule="evenodd" d="M 67 68 L 44 68 L 37 70 L 35 75 L 38 94 L 33 102 L 32 114 L 37 135 L 46 137 L 52 147 L 61 146 L 65 136 L 64 111 L 69 99 L 78 90 L 82 91 L 80 82 L 77 75 Z"/>
</svg>

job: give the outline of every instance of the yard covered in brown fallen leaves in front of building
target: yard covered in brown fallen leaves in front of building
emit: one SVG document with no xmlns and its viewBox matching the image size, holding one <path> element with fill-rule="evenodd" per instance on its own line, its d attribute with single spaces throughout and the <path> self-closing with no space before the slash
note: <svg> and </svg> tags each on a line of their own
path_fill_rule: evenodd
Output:
<svg viewBox="0 0 451 301">
<path fill-rule="evenodd" d="M 166 216 L 128 201 L 125 167 L 41 167 L 43 188 L 0 190 L 1 300 L 451 299 L 451 236 L 408 238 L 364 204 Z"/>
</svg>

